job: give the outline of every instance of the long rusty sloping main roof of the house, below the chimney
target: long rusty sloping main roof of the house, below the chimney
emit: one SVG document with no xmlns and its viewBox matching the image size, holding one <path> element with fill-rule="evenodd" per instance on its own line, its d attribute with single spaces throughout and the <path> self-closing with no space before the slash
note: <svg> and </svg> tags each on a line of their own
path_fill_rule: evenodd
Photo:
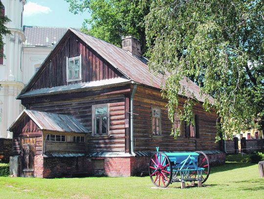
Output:
<svg viewBox="0 0 264 199">
<path fill-rule="evenodd" d="M 165 80 L 164 75 L 158 73 L 156 76 L 154 76 L 154 74 L 149 70 L 149 67 L 140 58 L 113 44 L 109 44 L 103 40 L 87 35 L 73 28 L 69 29 L 91 48 L 93 48 L 104 59 L 106 59 L 112 66 L 117 68 L 134 82 L 154 88 L 161 88 L 161 85 Z M 185 96 L 192 97 L 193 93 L 198 101 L 204 101 L 204 96 L 200 95 L 200 88 L 194 82 L 187 79 L 186 77 L 183 77 L 183 79 L 180 81 L 180 84 L 185 89 Z M 182 92 L 178 94 L 182 95 Z M 213 98 L 209 97 L 209 100 L 213 102 Z"/>
</svg>

